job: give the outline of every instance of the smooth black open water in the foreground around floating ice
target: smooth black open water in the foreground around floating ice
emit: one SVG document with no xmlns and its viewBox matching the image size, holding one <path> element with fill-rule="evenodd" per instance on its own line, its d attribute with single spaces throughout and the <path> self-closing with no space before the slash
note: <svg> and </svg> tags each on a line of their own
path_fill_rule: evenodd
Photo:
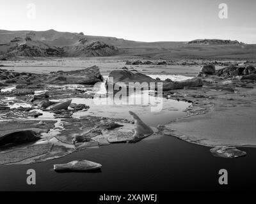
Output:
<svg viewBox="0 0 256 204">
<path fill-rule="evenodd" d="M 135 144 L 86 149 L 44 163 L 0 167 L 1 191 L 179 191 L 256 189 L 256 149 L 237 159 L 213 157 L 208 147 L 171 136 Z M 88 159 L 102 164 L 100 173 L 56 173 L 53 164 Z M 36 185 L 26 184 L 26 171 L 36 170 Z M 218 171 L 228 170 L 228 185 L 218 184 Z"/>
</svg>

